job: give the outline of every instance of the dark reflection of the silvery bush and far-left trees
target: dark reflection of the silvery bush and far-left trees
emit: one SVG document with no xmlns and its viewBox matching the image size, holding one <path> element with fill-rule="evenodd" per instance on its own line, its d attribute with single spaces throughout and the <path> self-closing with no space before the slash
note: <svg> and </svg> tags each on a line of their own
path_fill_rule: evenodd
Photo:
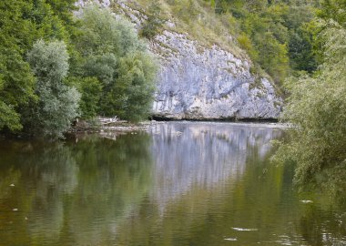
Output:
<svg viewBox="0 0 346 246">
<path fill-rule="evenodd" d="M 8 245 L 14 245 L 14 239 L 19 245 L 41 240 L 29 234 L 42 235 L 39 236 L 42 239 L 55 239 L 63 222 L 62 193 L 71 193 L 76 187 L 76 162 L 69 149 L 60 143 L 43 146 L 41 142 L 35 145 L 15 142 L 3 150 L 0 155 L 8 162 L 5 162 L 1 176 L 8 181 L 11 179 L 6 183 L 7 187 L 10 183 L 15 184 L 11 187 L 11 194 L 5 198 L 5 204 L 12 203 L 11 207 L 18 210 L 8 212 L 12 220 L 10 231 L 13 232 L 7 239 L 11 241 Z M 9 170 L 19 178 L 8 177 Z M 9 221 L 0 222 L 4 225 Z M 11 233 L 5 233 L 0 238 L 4 239 L 5 235 Z"/>
</svg>

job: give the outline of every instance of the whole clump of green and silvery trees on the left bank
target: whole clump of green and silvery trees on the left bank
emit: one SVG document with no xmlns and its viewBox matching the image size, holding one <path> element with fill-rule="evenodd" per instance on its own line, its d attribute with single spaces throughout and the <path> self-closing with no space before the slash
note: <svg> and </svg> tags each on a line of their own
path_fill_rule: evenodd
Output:
<svg viewBox="0 0 346 246">
<path fill-rule="evenodd" d="M 148 116 L 156 61 L 135 27 L 75 1 L 0 3 L 0 128 L 60 138 L 76 117 Z"/>
</svg>

